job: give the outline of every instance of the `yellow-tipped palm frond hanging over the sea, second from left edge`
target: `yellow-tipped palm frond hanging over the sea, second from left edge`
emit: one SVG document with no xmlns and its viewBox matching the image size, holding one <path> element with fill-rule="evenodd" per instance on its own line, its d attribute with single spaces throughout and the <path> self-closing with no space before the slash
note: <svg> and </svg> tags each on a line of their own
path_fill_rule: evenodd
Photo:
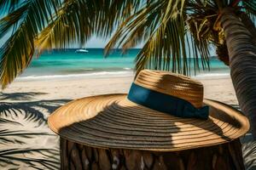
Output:
<svg viewBox="0 0 256 170">
<path fill-rule="evenodd" d="M 91 36 L 90 15 L 86 1 L 67 1 L 55 14 L 55 19 L 38 35 L 39 52 L 47 48 L 67 48 L 73 44 L 84 44 Z M 93 11 L 93 12 L 92 12 Z"/>
</svg>

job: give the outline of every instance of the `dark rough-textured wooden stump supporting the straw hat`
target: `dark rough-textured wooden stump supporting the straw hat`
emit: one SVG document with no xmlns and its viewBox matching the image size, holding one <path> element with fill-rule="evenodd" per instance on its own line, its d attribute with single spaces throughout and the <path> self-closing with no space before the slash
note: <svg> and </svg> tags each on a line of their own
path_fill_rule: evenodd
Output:
<svg viewBox="0 0 256 170">
<path fill-rule="evenodd" d="M 61 169 L 242 170 L 239 139 L 193 150 L 153 152 L 98 149 L 61 138 Z"/>
</svg>

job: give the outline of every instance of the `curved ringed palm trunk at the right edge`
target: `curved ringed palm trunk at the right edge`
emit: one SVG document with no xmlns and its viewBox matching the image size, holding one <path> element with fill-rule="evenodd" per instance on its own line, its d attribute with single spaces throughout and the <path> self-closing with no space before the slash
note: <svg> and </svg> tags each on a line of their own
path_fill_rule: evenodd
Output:
<svg viewBox="0 0 256 170">
<path fill-rule="evenodd" d="M 224 9 L 220 23 L 229 51 L 230 76 L 236 97 L 256 139 L 256 45 L 236 14 Z"/>
</svg>

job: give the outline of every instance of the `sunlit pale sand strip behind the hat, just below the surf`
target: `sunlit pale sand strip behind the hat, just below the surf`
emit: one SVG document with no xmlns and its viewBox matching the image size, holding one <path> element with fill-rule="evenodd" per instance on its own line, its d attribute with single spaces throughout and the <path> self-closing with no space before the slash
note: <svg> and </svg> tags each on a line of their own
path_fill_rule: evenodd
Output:
<svg viewBox="0 0 256 170">
<path fill-rule="evenodd" d="M 197 77 L 204 85 L 205 98 L 237 104 L 230 77 Z M 31 94 L 22 100 L 79 99 L 97 94 L 127 93 L 133 77 L 80 78 L 37 81 L 15 81 L 3 93 L 13 94 L 4 101 L 20 100 L 19 93 Z M 16 96 L 15 96 L 16 94 Z"/>
</svg>

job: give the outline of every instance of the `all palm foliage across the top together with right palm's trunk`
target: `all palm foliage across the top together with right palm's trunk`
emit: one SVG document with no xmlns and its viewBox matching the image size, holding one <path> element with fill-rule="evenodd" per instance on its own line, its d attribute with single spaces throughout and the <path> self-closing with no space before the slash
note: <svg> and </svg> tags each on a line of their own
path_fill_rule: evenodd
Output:
<svg viewBox="0 0 256 170">
<path fill-rule="evenodd" d="M 0 1 L 0 52 L 5 88 L 44 49 L 111 37 L 111 48 L 132 48 L 136 71 L 145 68 L 190 74 L 209 68 L 209 48 L 230 65 L 237 99 L 256 137 L 256 17 L 254 0 L 12 0 Z M 113 33 L 114 32 L 114 33 Z"/>
</svg>

